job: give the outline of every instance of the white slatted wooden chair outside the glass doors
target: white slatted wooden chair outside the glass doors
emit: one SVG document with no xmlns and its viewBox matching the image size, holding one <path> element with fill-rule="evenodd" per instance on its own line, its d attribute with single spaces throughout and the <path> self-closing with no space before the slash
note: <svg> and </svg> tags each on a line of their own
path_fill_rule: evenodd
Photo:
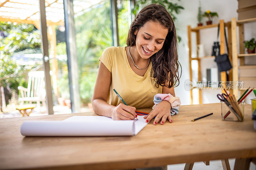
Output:
<svg viewBox="0 0 256 170">
<path fill-rule="evenodd" d="M 44 71 L 31 71 L 28 73 L 28 88 L 19 86 L 21 97 L 19 101 L 20 105 L 23 105 L 24 102 L 36 102 L 37 112 L 40 109 L 40 102 L 45 106 L 45 89 L 44 89 Z"/>
</svg>

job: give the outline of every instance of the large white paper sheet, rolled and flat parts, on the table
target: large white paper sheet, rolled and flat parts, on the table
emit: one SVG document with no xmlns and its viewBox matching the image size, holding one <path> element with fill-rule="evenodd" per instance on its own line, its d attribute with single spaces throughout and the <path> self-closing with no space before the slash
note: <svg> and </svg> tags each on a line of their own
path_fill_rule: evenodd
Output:
<svg viewBox="0 0 256 170">
<path fill-rule="evenodd" d="M 144 116 L 138 120 L 112 120 L 104 116 L 72 116 L 62 121 L 25 121 L 23 136 L 132 136 L 146 125 Z"/>
</svg>

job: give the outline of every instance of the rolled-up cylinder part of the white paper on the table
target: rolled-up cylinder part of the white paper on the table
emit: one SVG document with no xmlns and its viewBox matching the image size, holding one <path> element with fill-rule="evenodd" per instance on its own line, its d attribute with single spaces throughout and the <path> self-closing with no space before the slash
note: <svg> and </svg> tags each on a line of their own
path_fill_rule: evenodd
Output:
<svg viewBox="0 0 256 170">
<path fill-rule="evenodd" d="M 23 136 L 132 136 L 133 122 L 25 121 Z"/>
</svg>

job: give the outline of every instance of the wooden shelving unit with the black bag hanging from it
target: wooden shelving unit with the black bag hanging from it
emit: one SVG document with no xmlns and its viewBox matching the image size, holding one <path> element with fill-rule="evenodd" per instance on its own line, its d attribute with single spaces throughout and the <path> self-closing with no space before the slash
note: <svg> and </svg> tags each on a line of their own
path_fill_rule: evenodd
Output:
<svg viewBox="0 0 256 170">
<path fill-rule="evenodd" d="M 220 55 L 225 53 L 225 34 L 224 34 L 224 28 L 225 26 L 228 26 L 228 46 L 229 46 L 229 59 L 230 62 L 231 61 L 231 24 L 230 23 L 224 23 L 224 20 L 220 20 Z M 202 76 L 201 76 L 201 60 L 203 59 L 208 59 L 208 58 L 214 58 L 215 56 L 205 56 L 205 57 L 196 57 L 196 58 L 192 58 L 192 47 L 191 47 L 191 32 L 196 32 L 196 44 L 200 44 L 200 30 L 202 29 L 207 29 L 207 28 L 213 28 L 213 27 L 218 27 L 218 24 L 213 24 L 213 25 L 205 25 L 205 26 L 198 26 L 195 28 L 191 28 L 190 25 L 188 25 L 188 48 L 189 48 L 189 75 L 190 75 L 190 81 L 193 80 L 193 75 L 192 75 L 192 60 L 197 60 L 198 62 L 198 81 L 202 81 Z M 216 32 L 217 35 L 217 32 Z M 198 52 L 197 52 L 197 56 L 198 56 Z M 221 81 L 224 82 L 225 86 L 226 86 L 226 82 L 227 82 L 227 75 L 226 72 L 221 72 Z M 229 76 L 230 77 L 230 76 Z M 232 79 L 232 75 L 231 75 L 231 79 Z M 231 81 L 229 79 L 229 81 Z M 193 87 L 192 89 L 190 89 L 190 96 L 191 96 L 191 104 L 193 104 L 193 89 L 196 89 L 196 87 Z M 212 88 L 209 87 L 209 89 L 217 89 L 217 88 Z M 224 91 L 223 91 L 224 92 Z M 198 90 L 199 93 L 199 104 L 202 103 L 202 89 Z"/>
</svg>

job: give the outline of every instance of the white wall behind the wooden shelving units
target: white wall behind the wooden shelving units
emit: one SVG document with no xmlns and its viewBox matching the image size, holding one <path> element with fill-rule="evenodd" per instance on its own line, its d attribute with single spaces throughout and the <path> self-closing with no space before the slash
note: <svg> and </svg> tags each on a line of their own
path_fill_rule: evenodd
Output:
<svg viewBox="0 0 256 170">
<path fill-rule="evenodd" d="M 176 29 L 178 34 L 180 35 L 182 41 L 179 44 L 179 61 L 182 67 L 182 76 L 180 79 L 180 85 L 175 88 L 176 96 L 179 96 L 181 99 L 182 105 L 190 104 L 190 91 L 185 90 L 185 81 L 189 79 L 189 60 L 188 60 L 188 33 L 187 26 L 191 25 L 191 27 L 196 27 L 197 25 L 197 8 L 198 8 L 198 0 L 173 0 L 173 3 L 178 3 L 185 8 L 181 13 L 177 16 L 176 21 Z M 224 22 L 231 21 L 231 18 L 238 17 L 236 12 L 238 8 L 237 0 L 201 0 L 202 3 L 202 11 L 216 11 L 219 14 L 219 18 L 213 19 L 213 24 L 217 24 L 220 19 L 224 19 Z M 206 18 L 203 19 L 203 24 L 205 24 Z M 248 40 L 252 37 L 256 38 L 256 24 L 246 24 L 244 28 L 244 37 L 245 40 Z M 200 43 L 204 44 L 204 50 L 206 56 L 210 56 L 212 53 L 212 42 L 217 39 L 217 28 L 209 28 L 200 31 Z M 196 56 L 196 38 L 195 33 L 192 34 L 192 56 Z M 245 60 L 246 63 L 250 63 L 253 59 Z M 217 67 L 213 59 L 203 59 L 201 61 L 201 73 L 202 78 L 206 78 L 206 68 Z M 193 75 L 195 77 L 195 75 Z M 256 87 L 256 85 L 255 85 Z M 194 89 L 193 98 L 194 104 L 198 102 L 198 93 L 197 89 Z M 202 90 L 203 93 L 203 103 L 217 103 L 220 102 L 216 95 L 221 93 L 221 90 Z M 250 102 L 250 98 L 253 95 L 250 94 L 247 97 L 247 103 Z"/>
</svg>

